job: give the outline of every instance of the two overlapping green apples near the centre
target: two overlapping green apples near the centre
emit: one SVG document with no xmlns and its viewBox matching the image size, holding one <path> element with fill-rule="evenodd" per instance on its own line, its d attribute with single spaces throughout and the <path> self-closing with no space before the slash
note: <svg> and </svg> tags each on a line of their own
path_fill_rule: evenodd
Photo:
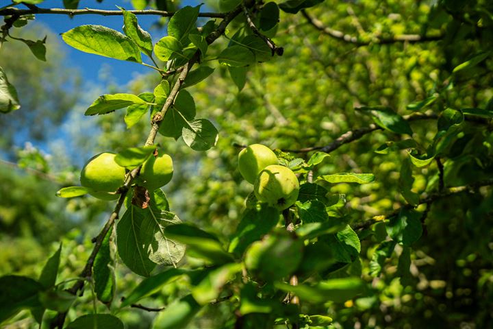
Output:
<svg viewBox="0 0 493 329">
<path fill-rule="evenodd" d="M 253 144 L 242 149 L 238 154 L 238 169 L 253 184 L 253 192 L 260 202 L 284 210 L 298 199 L 298 178 L 291 169 L 279 165 L 277 156 L 268 147 Z"/>
</svg>

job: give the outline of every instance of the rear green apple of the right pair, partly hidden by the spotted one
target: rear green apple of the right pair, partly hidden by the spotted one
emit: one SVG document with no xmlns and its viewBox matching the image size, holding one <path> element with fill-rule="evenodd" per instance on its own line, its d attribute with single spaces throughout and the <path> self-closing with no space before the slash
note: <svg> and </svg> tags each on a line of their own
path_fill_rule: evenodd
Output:
<svg viewBox="0 0 493 329">
<path fill-rule="evenodd" d="M 278 164 L 277 156 L 268 147 L 261 144 L 252 144 L 245 147 L 238 154 L 238 169 L 247 182 L 253 184 L 257 175 L 265 167 Z"/>
</svg>

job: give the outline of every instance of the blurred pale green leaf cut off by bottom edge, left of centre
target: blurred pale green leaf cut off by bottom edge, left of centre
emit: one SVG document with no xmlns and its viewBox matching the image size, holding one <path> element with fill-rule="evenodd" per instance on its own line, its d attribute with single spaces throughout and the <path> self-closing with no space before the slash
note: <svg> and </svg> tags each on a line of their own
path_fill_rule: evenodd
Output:
<svg viewBox="0 0 493 329">
<path fill-rule="evenodd" d="M 193 317 L 199 312 L 201 306 L 192 295 L 186 295 L 175 300 L 160 312 L 154 320 L 154 329 L 181 329 L 186 328 Z"/>
</svg>

